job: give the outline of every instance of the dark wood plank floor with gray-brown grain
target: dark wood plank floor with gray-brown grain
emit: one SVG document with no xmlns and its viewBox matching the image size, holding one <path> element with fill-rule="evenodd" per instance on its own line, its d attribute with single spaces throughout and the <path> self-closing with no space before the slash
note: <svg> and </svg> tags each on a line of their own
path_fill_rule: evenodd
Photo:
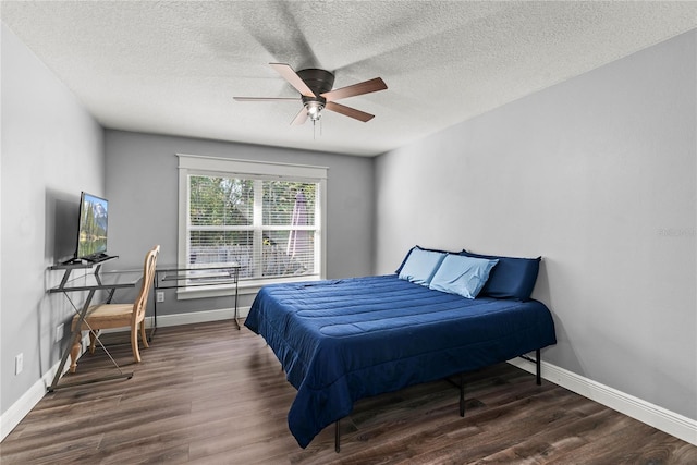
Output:
<svg viewBox="0 0 697 465">
<path fill-rule="evenodd" d="M 110 338 L 113 335 L 110 334 Z M 301 449 L 285 416 L 295 389 L 260 336 L 213 322 L 157 331 L 143 363 L 110 347 L 131 380 L 47 394 L 0 444 L 5 464 L 697 464 L 697 448 L 501 364 L 365 399 Z M 113 372 L 85 354 L 62 382 Z"/>
</svg>

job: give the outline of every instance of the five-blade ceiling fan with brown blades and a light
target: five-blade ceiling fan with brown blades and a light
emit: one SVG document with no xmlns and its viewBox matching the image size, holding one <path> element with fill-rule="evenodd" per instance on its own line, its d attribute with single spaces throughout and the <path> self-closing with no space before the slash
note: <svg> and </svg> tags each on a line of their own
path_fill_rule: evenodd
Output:
<svg viewBox="0 0 697 465">
<path fill-rule="evenodd" d="M 388 86 L 380 77 L 364 81 L 363 83 L 333 89 L 334 75 L 329 71 L 310 68 L 297 73 L 285 63 L 269 63 L 285 81 L 301 93 L 303 108 L 293 119 L 291 124 L 303 124 L 309 118 L 315 124 L 321 118 L 322 110 L 330 110 L 353 118 L 364 123 L 375 118 L 375 114 L 337 103 L 337 100 L 384 90 Z M 237 101 L 297 101 L 295 98 L 284 97 L 233 97 Z"/>
</svg>

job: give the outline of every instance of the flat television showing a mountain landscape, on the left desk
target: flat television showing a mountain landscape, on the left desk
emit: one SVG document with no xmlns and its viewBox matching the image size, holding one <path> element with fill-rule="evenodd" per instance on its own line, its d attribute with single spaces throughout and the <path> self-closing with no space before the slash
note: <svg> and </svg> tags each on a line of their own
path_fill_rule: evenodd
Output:
<svg viewBox="0 0 697 465">
<path fill-rule="evenodd" d="M 108 211 L 108 200 L 82 193 L 75 258 L 90 259 L 107 252 Z"/>
</svg>

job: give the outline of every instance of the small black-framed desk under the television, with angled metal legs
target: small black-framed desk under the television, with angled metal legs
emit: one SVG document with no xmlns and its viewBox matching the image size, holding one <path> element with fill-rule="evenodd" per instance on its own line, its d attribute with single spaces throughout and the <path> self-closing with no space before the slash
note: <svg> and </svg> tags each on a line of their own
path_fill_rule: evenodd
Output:
<svg viewBox="0 0 697 465">
<path fill-rule="evenodd" d="M 115 257 L 113 257 L 115 258 Z M 73 277 L 73 270 L 87 270 L 94 267 L 94 272 L 84 272 L 81 276 Z M 61 357 L 61 363 L 58 367 L 58 371 L 56 371 L 56 376 L 53 377 L 53 381 L 51 386 L 47 388 L 48 392 L 53 392 L 60 388 L 69 388 L 71 386 L 86 384 L 98 381 L 107 381 L 111 379 L 120 379 L 126 378 L 131 379 L 133 377 L 133 371 L 123 372 L 119 365 L 115 363 L 109 351 L 99 342 L 99 345 L 107 352 L 109 358 L 111 358 L 114 366 L 119 369 L 118 375 L 105 376 L 94 379 L 82 380 L 77 382 L 68 382 L 61 386 L 58 384 L 62 374 L 63 368 L 65 367 L 65 363 L 68 362 L 68 357 L 70 356 L 70 351 L 72 347 L 72 342 L 75 340 L 75 336 L 81 333 L 82 323 L 85 320 L 85 315 L 91 305 L 91 301 L 95 297 L 95 293 L 97 291 L 106 291 L 107 292 L 107 303 L 111 302 L 114 292 L 118 289 L 133 289 L 136 287 L 137 284 L 143 279 L 143 271 L 101 271 L 101 262 L 100 264 L 70 264 L 70 265 L 54 265 L 49 267 L 49 270 L 62 270 L 63 278 L 59 285 L 56 287 L 49 289 L 49 293 L 63 293 L 68 295 L 71 292 L 87 292 L 87 297 L 85 298 L 85 303 L 82 305 L 82 308 L 77 308 L 73 301 L 69 297 L 71 305 L 73 305 L 73 309 L 75 314 L 80 317 L 78 325 L 75 325 L 75 328 L 71 331 L 71 340 L 70 343 L 65 346 L 63 351 L 63 356 Z M 97 336 L 97 341 L 99 341 L 99 336 Z"/>
</svg>

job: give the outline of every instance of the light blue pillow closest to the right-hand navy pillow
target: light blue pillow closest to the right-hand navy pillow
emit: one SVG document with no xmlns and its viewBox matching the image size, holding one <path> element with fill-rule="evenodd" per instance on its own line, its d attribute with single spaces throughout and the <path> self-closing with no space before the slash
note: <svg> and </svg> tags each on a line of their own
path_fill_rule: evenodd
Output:
<svg viewBox="0 0 697 465">
<path fill-rule="evenodd" d="M 448 255 L 433 276 L 430 289 L 475 298 L 499 260 Z"/>
</svg>

